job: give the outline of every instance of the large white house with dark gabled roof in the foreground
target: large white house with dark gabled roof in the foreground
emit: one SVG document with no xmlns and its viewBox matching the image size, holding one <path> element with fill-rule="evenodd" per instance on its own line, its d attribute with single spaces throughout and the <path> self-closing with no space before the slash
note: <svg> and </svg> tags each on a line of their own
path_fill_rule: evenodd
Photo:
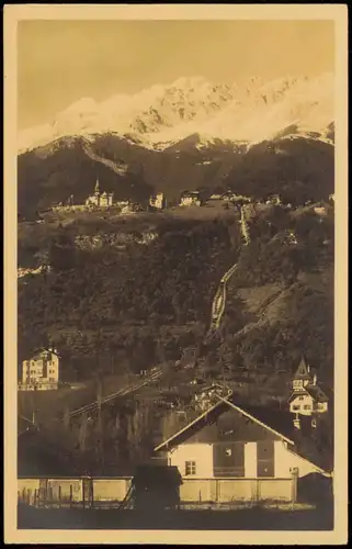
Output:
<svg viewBox="0 0 352 549">
<path fill-rule="evenodd" d="M 319 463 L 308 417 L 289 412 L 237 405 L 232 397 L 216 404 L 178 432 L 167 436 L 155 452 L 163 453 L 190 479 L 289 479 L 310 473 L 329 475 Z"/>
</svg>

